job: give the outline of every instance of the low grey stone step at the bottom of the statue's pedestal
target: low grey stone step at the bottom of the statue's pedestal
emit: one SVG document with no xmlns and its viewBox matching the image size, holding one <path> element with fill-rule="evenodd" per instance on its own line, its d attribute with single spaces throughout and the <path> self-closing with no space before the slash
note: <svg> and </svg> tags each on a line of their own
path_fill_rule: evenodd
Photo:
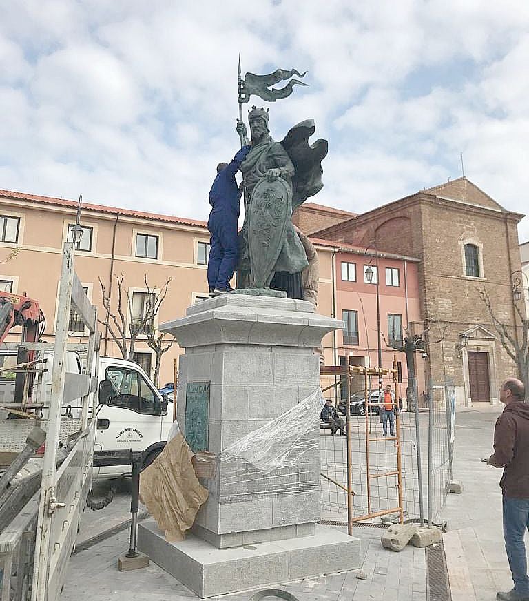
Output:
<svg viewBox="0 0 529 601">
<path fill-rule="evenodd" d="M 360 540 L 319 524 L 313 536 L 216 549 L 191 534 L 167 542 L 151 518 L 138 526 L 138 549 L 200 598 L 362 565 Z"/>
</svg>

